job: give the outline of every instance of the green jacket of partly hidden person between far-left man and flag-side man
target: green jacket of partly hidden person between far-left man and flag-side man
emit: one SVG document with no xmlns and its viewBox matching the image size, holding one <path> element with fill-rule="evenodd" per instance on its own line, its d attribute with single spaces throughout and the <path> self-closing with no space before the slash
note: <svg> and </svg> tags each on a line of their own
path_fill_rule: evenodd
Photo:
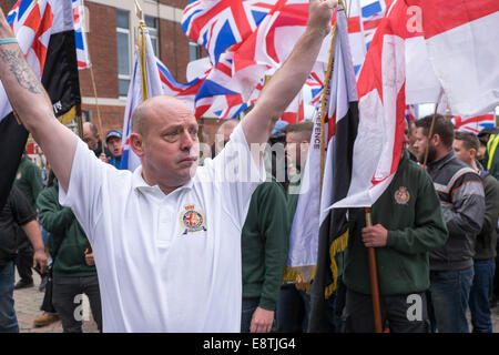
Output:
<svg viewBox="0 0 499 355">
<path fill-rule="evenodd" d="M 16 176 L 16 186 L 21 190 L 30 205 L 35 210 L 37 197 L 43 189 L 41 170 L 27 155 L 22 156 Z"/>
</svg>

